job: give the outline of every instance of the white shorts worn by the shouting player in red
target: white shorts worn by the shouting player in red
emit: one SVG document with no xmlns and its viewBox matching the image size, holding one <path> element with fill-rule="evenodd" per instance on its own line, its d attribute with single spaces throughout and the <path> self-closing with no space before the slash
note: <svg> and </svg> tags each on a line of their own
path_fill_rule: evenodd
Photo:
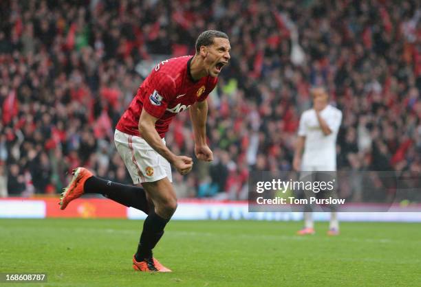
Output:
<svg viewBox="0 0 421 287">
<path fill-rule="evenodd" d="M 165 144 L 165 139 L 162 142 Z M 151 148 L 142 137 L 127 135 L 116 129 L 114 143 L 134 184 L 151 183 L 165 177 L 173 182 L 169 161 Z"/>
</svg>

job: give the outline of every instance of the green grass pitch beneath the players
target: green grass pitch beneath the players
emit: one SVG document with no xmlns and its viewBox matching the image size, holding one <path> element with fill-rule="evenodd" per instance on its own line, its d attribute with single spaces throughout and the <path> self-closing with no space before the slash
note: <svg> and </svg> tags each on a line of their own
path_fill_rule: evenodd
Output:
<svg viewBox="0 0 421 287">
<path fill-rule="evenodd" d="M 173 273 L 133 271 L 140 220 L 0 220 L 0 273 L 47 273 L 5 286 L 421 286 L 421 225 L 343 222 L 300 237 L 301 222 L 173 221 L 155 257 Z M 2 285 L 2 284 L 0 284 Z"/>
</svg>

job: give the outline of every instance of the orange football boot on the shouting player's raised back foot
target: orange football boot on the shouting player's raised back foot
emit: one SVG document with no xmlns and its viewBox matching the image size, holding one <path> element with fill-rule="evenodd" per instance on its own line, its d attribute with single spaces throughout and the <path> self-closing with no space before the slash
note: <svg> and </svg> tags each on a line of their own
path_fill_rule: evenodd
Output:
<svg viewBox="0 0 421 287">
<path fill-rule="evenodd" d="M 70 201 L 82 196 L 83 185 L 89 177 L 94 176 L 92 172 L 89 172 L 86 168 L 75 168 L 72 172 L 73 178 L 67 187 L 63 188 L 63 193 L 60 198 L 60 209 L 64 210 Z"/>
</svg>

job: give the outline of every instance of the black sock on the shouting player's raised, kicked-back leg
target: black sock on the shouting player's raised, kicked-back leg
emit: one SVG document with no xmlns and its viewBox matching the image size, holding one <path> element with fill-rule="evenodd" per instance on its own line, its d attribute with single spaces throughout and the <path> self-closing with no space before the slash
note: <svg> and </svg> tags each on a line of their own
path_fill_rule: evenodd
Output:
<svg viewBox="0 0 421 287">
<path fill-rule="evenodd" d="M 85 181 L 84 192 L 85 194 L 102 194 L 117 203 L 142 210 L 145 214 L 149 213 L 146 193 L 142 187 L 122 185 L 91 176 Z"/>
</svg>

